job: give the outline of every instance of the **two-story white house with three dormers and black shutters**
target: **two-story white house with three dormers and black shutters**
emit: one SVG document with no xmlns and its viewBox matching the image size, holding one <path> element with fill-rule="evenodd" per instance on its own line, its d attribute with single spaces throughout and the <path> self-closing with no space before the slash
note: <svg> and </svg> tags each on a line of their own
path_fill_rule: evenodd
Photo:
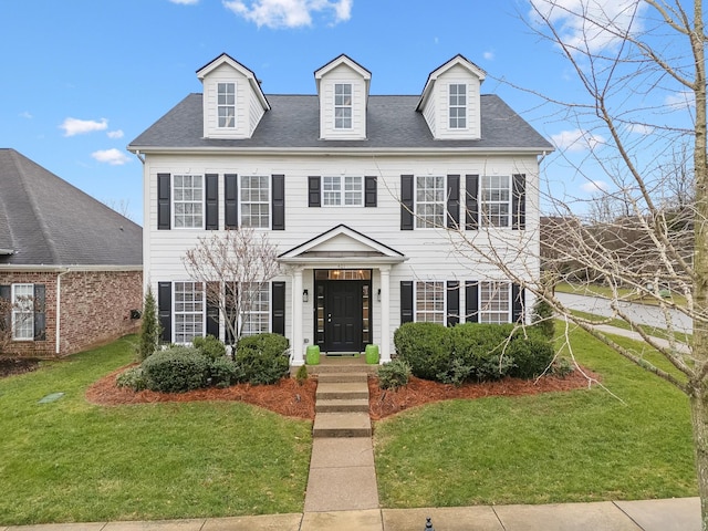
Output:
<svg viewBox="0 0 708 531">
<path fill-rule="evenodd" d="M 314 72 L 309 95 L 267 95 L 227 54 L 197 76 L 204 93 L 128 146 L 144 163 L 144 271 L 164 340 L 225 337 L 183 257 L 239 227 L 267 231 L 283 271 L 260 288 L 249 331 L 284 334 L 293 365 L 308 345 L 376 344 L 388 361 L 407 321 L 528 320 L 523 291 L 459 246 L 481 235 L 503 251 L 524 235 L 531 252 L 507 267 L 538 275 L 539 160 L 552 146 L 481 94 L 479 66 L 457 55 L 414 95 L 371 94 L 372 73 L 346 55 Z"/>
</svg>

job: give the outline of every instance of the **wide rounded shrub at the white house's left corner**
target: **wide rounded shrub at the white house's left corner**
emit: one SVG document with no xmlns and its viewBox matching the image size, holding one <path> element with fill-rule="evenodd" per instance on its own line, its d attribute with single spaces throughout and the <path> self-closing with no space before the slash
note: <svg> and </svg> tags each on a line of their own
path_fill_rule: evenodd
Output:
<svg viewBox="0 0 708 531">
<path fill-rule="evenodd" d="M 162 393 L 185 393 L 207 386 L 209 360 L 198 350 L 175 346 L 156 352 L 143 362 L 147 388 Z"/>
</svg>

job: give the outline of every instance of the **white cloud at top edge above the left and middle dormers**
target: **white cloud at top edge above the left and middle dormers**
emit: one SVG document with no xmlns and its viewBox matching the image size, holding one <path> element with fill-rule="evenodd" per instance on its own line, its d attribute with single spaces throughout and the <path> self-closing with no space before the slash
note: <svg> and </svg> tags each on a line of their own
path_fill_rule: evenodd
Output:
<svg viewBox="0 0 708 531">
<path fill-rule="evenodd" d="M 259 28 L 312 25 L 312 15 L 331 12 L 336 24 L 352 17 L 353 0 L 222 0 L 223 6 Z"/>
</svg>

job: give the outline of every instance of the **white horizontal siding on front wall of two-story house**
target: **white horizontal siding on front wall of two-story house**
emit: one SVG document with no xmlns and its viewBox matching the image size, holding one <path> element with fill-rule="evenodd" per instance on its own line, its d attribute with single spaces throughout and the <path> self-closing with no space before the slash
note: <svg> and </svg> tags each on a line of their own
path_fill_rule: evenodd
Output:
<svg viewBox="0 0 708 531">
<path fill-rule="evenodd" d="M 377 207 L 309 207 L 308 177 L 339 175 L 342 168 L 346 175 L 378 176 Z M 145 164 L 145 279 L 153 284 L 158 281 L 186 280 L 186 271 L 181 257 L 186 250 L 197 244 L 199 237 L 210 236 L 211 231 L 200 229 L 157 230 L 157 174 L 192 173 L 219 174 L 219 227 L 223 227 L 223 174 L 272 175 L 285 176 L 285 230 L 269 232 L 269 239 L 282 253 L 303 242 L 344 223 L 389 248 L 393 248 L 408 260 L 396 264 L 391 270 L 391 333 L 399 325 L 400 302 L 399 282 L 402 280 L 459 280 L 460 310 L 465 309 L 465 280 L 502 280 L 503 274 L 493 267 L 479 260 L 469 246 L 464 244 L 459 235 L 441 229 L 400 230 L 400 175 L 460 175 L 461 192 L 465 198 L 465 175 L 512 175 L 527 176 L 527 229 L 514 231 L 498 229 L 494 231 L 465 231 L 464 237 L 481 248 L 496 249 L 511 269 L 527 278 L 538 275 L 539 271 L 539 227 L 538 227 L 538 163 L 533 155 L 519 157 L 481 157 L 473 155 L 450 155 L 447 157 L 315 157 L 300 156 L 285 159 L 268 156 L 237 156 L 229 154 L 204 156 L 167 156 L 150 155 Z M 460 218 L 465 219 L 464 205 Z M 333 239 L 330 249 L 339 249 L 341 240 Z M 459 250 L 461 243 L 462 251 Z M 503 251 L 508 249 L 508 251 Z M 519 249 L 528 252 L 519 252 Z M 352 249 L 350 249 L 352 250 Z M 355 249 L 354 249 L 355 250 Z M 343 260 L 342 267 L 362 267 Z M 292 298 L 290 275 L 285 280 L 287 335 L 292 337 L 292 304 L 303 304 L 301 299 Z M 381 288 L 377 270 L 373 275 L 373 294 Z M 303 289 L 311 294 L 313 290 L 313 272 L 303 271 Z M 313 343 L 312 304 L 314 296 L 304 304 L 302 333 L 308 344 Z M 377 315 L 381 315 L 381 303 L 373 296 L 374 342 L 383 341 Z M 393 344 L 391 344 L 393 352 Z"/>
</svg>

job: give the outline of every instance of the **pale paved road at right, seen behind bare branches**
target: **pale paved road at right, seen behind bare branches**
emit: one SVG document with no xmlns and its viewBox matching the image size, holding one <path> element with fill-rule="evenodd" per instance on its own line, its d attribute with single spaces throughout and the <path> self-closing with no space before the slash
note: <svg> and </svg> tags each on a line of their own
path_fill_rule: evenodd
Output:
<svg viewBox="0 0 708 531">
<path fill-rule="evenodd" d="M 572 293 L 555 293 L 555 296 L 562 304 L 571 310 L 580 310 L 582 312 L 594 313 L 606 317 L 613 315 L 613 311 L 610 308 L 610 301 L 607 299 L 575 295 Z M 657 329 L 667 327 L 666 316 L 662 310 L 656 306 L 637 304 L 634 302 L 621 302 L 620 304 L 623 311 L 639 324 L 648 324 L 649 326 L 656 326 Z M 691 332 L 693 323 L 689 317 L 676 310 L 670 310 L 669 315 L 677 331 L 687 333 Z"/>
</svg>

